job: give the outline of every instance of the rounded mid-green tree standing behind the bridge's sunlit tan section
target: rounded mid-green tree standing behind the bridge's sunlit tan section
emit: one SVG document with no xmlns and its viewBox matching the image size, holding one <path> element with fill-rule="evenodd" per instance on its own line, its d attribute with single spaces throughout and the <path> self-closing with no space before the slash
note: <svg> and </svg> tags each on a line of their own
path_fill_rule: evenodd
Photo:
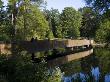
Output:
<svg viewBox="0 0 110 82">
<path fill-rule="evenodd" d="M 62 37 L 77 38 L 80 36 L 81 13 L 72 7 L 66 7 L 60 15 Z"/>
</svg>

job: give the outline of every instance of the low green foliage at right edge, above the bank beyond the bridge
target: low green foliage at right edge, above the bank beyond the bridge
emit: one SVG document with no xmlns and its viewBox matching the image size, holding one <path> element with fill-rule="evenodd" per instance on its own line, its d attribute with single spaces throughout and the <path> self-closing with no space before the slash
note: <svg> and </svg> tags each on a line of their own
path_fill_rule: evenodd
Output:
<svg viewBox="0 0 110 82">
<path fill-rule="evenodd" d="M 100 28 L 96 32 L 96 41 L 98 42 L 108 42 L 110 34 L 110 20 L 105 19 L 101 25 Z"/>
</svg>

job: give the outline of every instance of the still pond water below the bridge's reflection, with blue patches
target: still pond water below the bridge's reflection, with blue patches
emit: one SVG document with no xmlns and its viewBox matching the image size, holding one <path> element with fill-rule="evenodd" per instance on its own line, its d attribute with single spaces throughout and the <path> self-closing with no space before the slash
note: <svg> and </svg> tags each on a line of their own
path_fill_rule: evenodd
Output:
<svg viewBox="0 0 110 82">
<path fill-rule="evenodd" d="M 60 65 L 63 82 L 110 82 L 110 50 L 95 48 L 93 54 Z"/>
</svg>

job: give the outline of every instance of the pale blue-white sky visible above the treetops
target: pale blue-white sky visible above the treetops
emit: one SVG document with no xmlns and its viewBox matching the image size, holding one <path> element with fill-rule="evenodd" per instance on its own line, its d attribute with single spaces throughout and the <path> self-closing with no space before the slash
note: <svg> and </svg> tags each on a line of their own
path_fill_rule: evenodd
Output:
<svg viewBox="0 0 110 82">
<path fill-rule="evenodd" d="M 7 4 L 8 0 L 2 0 L 4 1 L 4 4 Z M 58 9 L 60 12 L 65 8 L 65 7 L 73 7 L 76 10 L 80 7 L 85 6 L 84 0 L 45 0 L 47 1 L 47 9 Z"/>
</svg>

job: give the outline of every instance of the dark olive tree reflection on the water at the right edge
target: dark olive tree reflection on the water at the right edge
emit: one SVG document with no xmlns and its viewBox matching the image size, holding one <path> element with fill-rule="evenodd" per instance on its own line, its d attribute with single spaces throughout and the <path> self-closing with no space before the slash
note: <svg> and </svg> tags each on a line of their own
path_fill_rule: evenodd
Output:
<svg viewBox="0 0 110 82">
<path fill-rule="evenodd" d="M 95 48 L 94 53 L 99 58 L 102 75 L 108 74 L 110 72 L 110 49 Z"/>
</svg>

